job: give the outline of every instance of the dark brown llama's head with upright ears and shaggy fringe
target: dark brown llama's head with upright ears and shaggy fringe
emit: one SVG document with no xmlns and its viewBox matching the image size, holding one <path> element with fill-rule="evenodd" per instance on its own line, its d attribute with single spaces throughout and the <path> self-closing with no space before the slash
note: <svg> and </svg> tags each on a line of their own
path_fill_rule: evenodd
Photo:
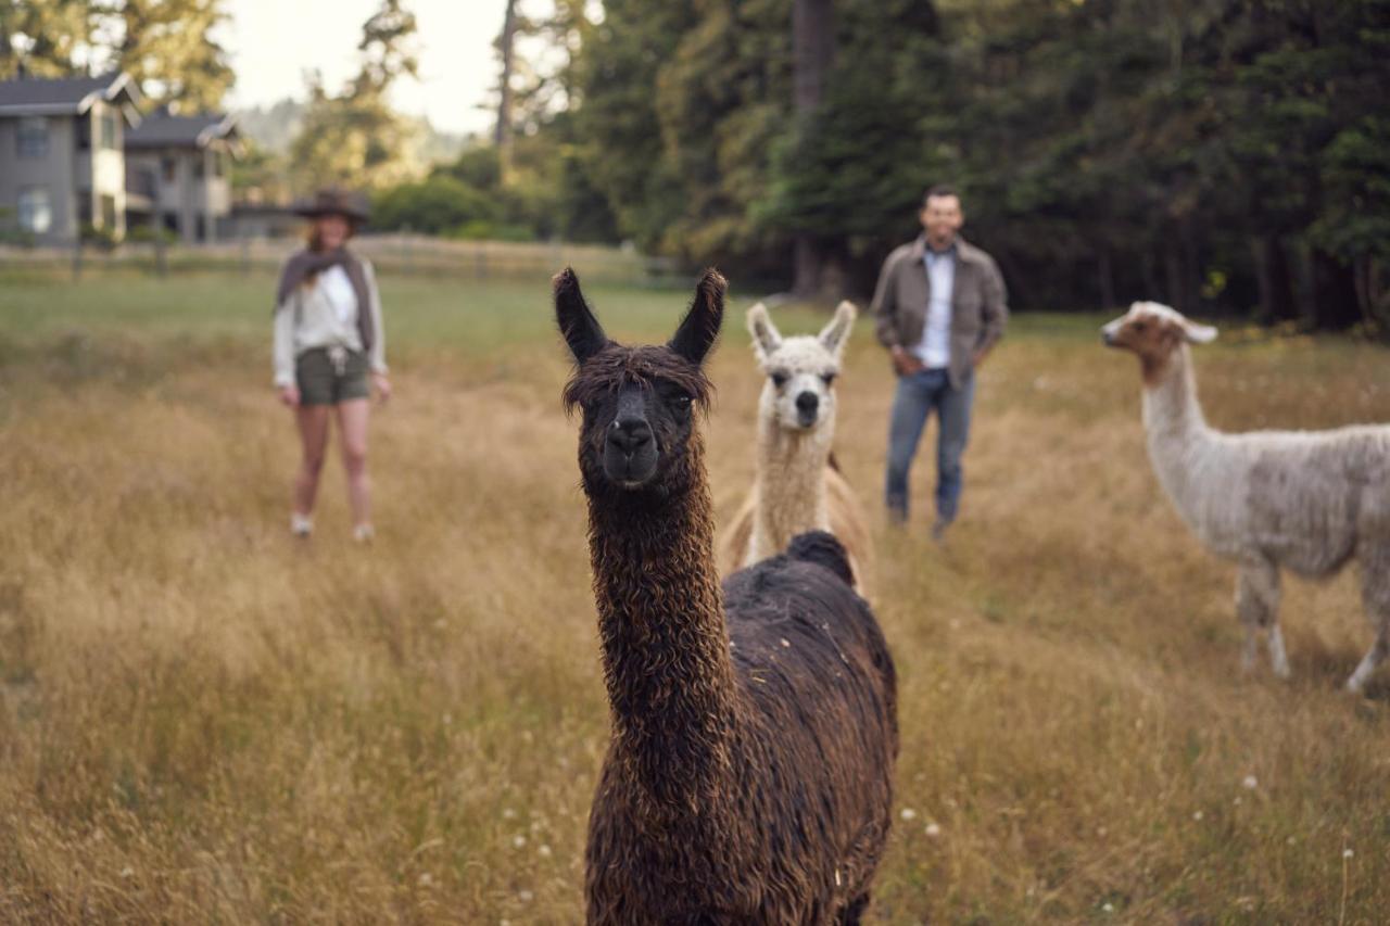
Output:
<svg viewBox="0 0 1390 926">
<path fill-rule="evenodd" d="M 705 271 L 671 339 L 628 348 L 603 334 L 573 270 L 555 278 L 555 316 L 575 364 L 564 403 L 584 416 L 580 471 L 591 495 L 670 492 L 688 481 L 695 410 L 712 392 L 701 364 L 719 336 L 726 288 Z"/>
</svg>

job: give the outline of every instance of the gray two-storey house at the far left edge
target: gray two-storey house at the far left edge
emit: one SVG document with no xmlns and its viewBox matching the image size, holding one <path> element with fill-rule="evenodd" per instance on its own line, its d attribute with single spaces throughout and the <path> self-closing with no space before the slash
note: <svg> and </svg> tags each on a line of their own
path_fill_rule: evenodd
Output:
<svg viewBox="0 0 1390 926">
<path fill-rule="evenodd" d="M 125 236 L 125 131 L 139 122 L 125 74 L 0 82 L 0 222 L 42 243 L 83 227 Z"/>
</svg>

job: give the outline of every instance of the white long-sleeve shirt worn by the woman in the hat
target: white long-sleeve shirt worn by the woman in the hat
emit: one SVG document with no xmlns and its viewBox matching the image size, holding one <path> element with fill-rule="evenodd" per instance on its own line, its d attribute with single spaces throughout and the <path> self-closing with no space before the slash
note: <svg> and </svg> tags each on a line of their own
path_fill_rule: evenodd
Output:
<svg viewBox="0 0 1390 926">
<path fill-rule="evenodd" d="M 377 273 L 361 261 L 367 281 L 367 311 L 371 313 L 373 343 L 370 356 L 373 373 L 386 373 L 386 332 L 381 324 L 381 293 L 377 292 Z M 295 359 L 314 348 L 342 346 L 361 350 L 357 331 L 357 296 L 342 267 L 329 267 L 314 282 L 297 286 L 275 310 L 275 385 L 295 385 Z"/>
</svg>

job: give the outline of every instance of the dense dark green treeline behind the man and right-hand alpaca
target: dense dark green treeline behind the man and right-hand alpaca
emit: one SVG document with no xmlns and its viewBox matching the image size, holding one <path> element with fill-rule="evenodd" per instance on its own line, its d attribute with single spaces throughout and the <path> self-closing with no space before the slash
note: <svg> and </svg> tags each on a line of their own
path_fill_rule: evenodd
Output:
<svg viewBox="0 0 1390 926">
<path fill-rule="evenodd" d="M 1390 330 L 1390 0 L 557 6 L 549 108 L 382 222 L 863 293 L 949 182 L 1020 309 Z"/>
</svg>

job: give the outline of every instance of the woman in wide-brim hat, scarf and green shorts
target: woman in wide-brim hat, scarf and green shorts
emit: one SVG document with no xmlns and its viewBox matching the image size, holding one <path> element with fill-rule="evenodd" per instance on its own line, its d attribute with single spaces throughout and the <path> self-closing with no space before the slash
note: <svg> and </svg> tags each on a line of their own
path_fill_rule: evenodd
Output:
<svg viewBox="0 0 1390 926">
<path fill-rule="evenodd" d="M 310 221 L 309 241 L 285 263 L 275 293 L 275 388 L 295 410 L 303 445 L 291 531 L 309 537 L 314 530 L 318 476 L 336 419 L 353 535 L 366 541 L 373 535 L 367 480 L 373 387 L 382 402 L 391 398 L 377 278 L 371 264 L 348 249 L 367 210 L 356 196 L 324 189 L 295 213 Z"/>
</svg>

